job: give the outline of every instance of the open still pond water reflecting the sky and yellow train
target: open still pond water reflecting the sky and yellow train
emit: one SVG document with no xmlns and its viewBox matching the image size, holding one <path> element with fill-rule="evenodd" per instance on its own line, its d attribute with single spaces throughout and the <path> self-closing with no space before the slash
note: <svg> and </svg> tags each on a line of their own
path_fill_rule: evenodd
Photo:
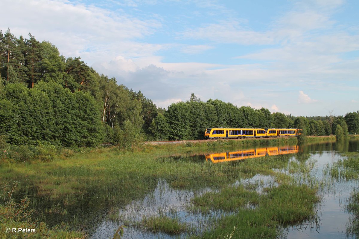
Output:
<svg viewBox="0 0 359 239">
<path fill-rule="evenodd" d="M 342 158 L 341 153 L 359 152 L 359 141 L 331 142 L 312 144 L 304 146 L 280 146 L 238 150 L 223 150 L 221 152 L 196 155 L 185 159 L 176 156 L 178 160 L 206 161 L 206 163 L 230 163 L 257 157 L 271 157 L 281 154 L 292 156 L 289 160 L 296 161 L 298 156 L 306 158 L 306 163 L 313 165 L 310 175 L 316 180 L 326 180 L 327 186 L 319 190 L 321 203 L 317 205 L 319 220 L 305 222 L 300 225 L 284 228 L 283 238 L 351 238 L 345 234 L 346 225 L 349 222 L 350 214 L 344 210 L 347 200 L 353 188 L 358 189 L 355 181 L 335 181 L 330 176 L 325 176 L 325 170 L 332 163 Z M 254 159 L 253 159 L 254 158 Z M 288 173 L 288 172 L 287 172 Z M 255 175 L 245 180 L 238 180 L 236 184 L 259 183 L 260 188 L 276 185 L 271 176 Z M 181 223 L 191 225 L 193 231 L 200 233 L 202 230 L 211 228 L 211 221 L 224 215 L 224 212 L 213 211 L 202 215 L 199 212 L 191 211 L 190 199 L 207 191 L 219 191 L 220 188 L 194 188 L 190 190 L 173 189 L 165 180 L 158 180 L 154 191 L 149 192 L 143 199 L 132 201 L 128 205 L 120 205 L 115 213 L 118 213 L 117 220 L 106 220 L 97 224 L 97 228 L 90 238 L 112 238 L 114 231 L 119 225 L 127 225 L 124 235 L 121 238 L 184 238 L 186 234 L 179 236 L 165 233 L 151 233 L 139 229 L 136 222 L 140 222 L 143 216 L 168 216 L 178 218 Z M 260 193 L 260 190 L 258 191 Z M 103 215 L 106 218 L 106 215 Z"/>
</svg>

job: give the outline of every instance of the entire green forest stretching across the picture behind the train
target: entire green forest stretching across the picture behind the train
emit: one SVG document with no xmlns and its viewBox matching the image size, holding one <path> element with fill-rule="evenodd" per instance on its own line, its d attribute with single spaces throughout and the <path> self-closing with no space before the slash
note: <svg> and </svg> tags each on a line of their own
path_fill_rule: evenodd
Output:
<svg viewBox="0 0 359 239">
<path fill-rule="evenodd" d="M 218 99 L 162 109 L 141 91 L 65 58 L 48 41 L 0 30 L 0 148 L 6 145 L 121 148 L 151 140 L 202 139 L 206 128 L 300 128 L 306 135 L 359 134 L 359 110 L 345 116 L 292 116 Z M 340 127 L 338 127 L 340 126 Z M 1 143 L 3 142 L 3 143 Z"/>
</svg>

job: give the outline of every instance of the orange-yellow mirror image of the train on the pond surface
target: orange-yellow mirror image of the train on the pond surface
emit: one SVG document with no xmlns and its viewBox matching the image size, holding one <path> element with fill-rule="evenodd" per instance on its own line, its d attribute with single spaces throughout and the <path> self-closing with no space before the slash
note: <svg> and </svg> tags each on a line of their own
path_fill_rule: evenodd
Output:
<svg viewBox="0 0 359 239">
<path fill-rule="evenodd" d="M 285 147 L 267 147 L 256 149 L 244 149 L 234 152 L 213 153 L 206 155 L 206 161 L 211 160 L 213 163 L 228 162 L 246 158 L 257 158 L 266 155 L 275 156 L 279 154 L 298 153 L 298 145 Z"/>
</svg>

